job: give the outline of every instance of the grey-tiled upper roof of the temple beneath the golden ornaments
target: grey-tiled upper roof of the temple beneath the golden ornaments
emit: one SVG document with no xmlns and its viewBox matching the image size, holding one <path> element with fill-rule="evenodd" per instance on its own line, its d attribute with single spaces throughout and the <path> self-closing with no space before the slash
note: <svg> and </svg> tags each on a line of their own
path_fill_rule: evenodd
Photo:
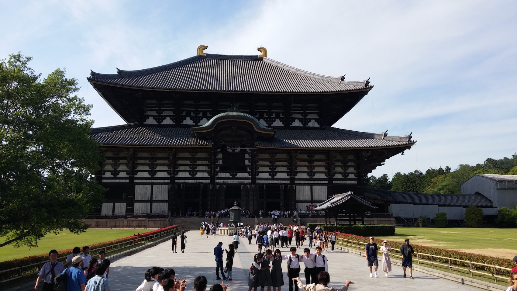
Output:
<svg viewBox="0 0 517 291">
<path fill-rule="evenodd" d="M 318 94 L 369 91 L 369 80 L 346 81 L 257 55 L 196 55 L 169 65 L 117 74 L 93 72 L 92 84 L 171 91 Z"/>
</svg>

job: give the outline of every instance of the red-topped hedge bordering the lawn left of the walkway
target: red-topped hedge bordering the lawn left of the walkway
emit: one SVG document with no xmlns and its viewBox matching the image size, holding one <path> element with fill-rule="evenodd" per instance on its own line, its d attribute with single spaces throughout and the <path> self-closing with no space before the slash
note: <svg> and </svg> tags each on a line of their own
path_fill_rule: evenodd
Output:
<svg viewBox="0 0 517 291">
<path fill-rule="evenodd" d="M 160 234 L 160 233 L 169 231 L 170 229 L 175 228 L 175 227 L 177 227 L 177 225 L 163 227 L 163 228 L 160 228 L 160 229 L 156 229 L 155 231 L 150 231 L 150 232 L 146 232 L 146 233 L 135 235 L 135 236 L 128 236 L 128 237 L 119 238 L 119 239 L 115 239 L 115 240 L 110 240 L 110 241 L 104 241 L 104 242 L 99 242 L 99 243 L 95 243 L 95 244 L 90 244 L 89 247 L 90 247 L 90 250 L 100 249 L 100 248 L 104 248 L 104 247 L 107 247 L 107 246 L 111 246 L 112 244 L 117 244 L 117 243 L 121 243 L 121 242 L 126 242 L 126 241 L 130 241 L 130 240 L 134 240 L 134 239 L 137 239 L 139 236 L 140 237 L 145 237 L 145 236 L 149 236 L 149 235 Z M 59 256 L 63 256 L 63 254 L 70 254 L 70 253 L 72 253 L 72 249 L 61 250 L 61 251 L 58 251 L 58 253 L 59 253 Z M 48 261 L 48 259 L 49 259 L 49 254 L 48 253 L 40 254 L 40 255 L 34 255 L 34 256 L 28 256 L 28 257 L 23 257 L 23 258 L 17 258 L 17 259 L 12 259 L 10 261 L 0 262 L 0 270 L 7 270 L 7 269 L 11 269 L 11 268 L 16 268 L 16 267 L 36 264 L 36 263 Z M 63 261 L 63 263 L 65 263 L 65 262 Z"/>
</svg>

